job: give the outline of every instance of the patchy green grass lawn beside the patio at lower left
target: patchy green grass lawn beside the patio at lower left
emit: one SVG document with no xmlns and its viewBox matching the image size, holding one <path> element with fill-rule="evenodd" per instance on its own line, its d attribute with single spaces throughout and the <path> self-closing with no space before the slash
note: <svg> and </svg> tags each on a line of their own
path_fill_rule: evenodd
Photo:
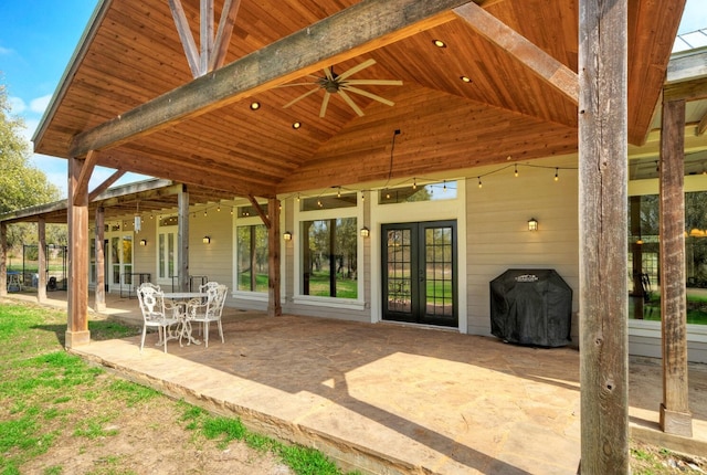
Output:
<svg viewBox="0 0 707 475">
<path fill-rule="evenodd" d="M 140 331 L 140 328 L 107 320 L 89 321 L 88 328 L 93 340 L 122 338 Z M 249 432 L 238 419 L 212 415 L 87 365 L 64 350 L 65 331 L 65 312 L 31 304 L 0 303 L 1 475 L 29 473 L 23 468 L 25 465 L 48 451 L 60 451 L 68 444 L 72 448 L 64 450 L 78 451 L 76 454 L 110 451 L 112 437 L 117 437 L 122 428 L 129 426 L 128 419 L 152 421 L 157 408 L 172 408 L 173 413 L 180 415 L 175 420 L 151 422 L 145 431 L 163 434 L 169 430 L 183 431 L 192 447 L 180 450 L 197 452 L 211 444 L 223 452 L 232 441 L 241 441 L 255 452 L 268 452 L 296 474 L 341 473 L 318 451 L 285 445 Z M 127 455 L 103 455 L 94 462 L 95 469 L 86 473 L 136 474 L 123 466 L 140 457 L 139 444 L 134 451 Z M 32 473 L 36 473 L 35 469 Z M 74 472 L 61 461 L 52 461 L 41 473 Z"/>
</svg>

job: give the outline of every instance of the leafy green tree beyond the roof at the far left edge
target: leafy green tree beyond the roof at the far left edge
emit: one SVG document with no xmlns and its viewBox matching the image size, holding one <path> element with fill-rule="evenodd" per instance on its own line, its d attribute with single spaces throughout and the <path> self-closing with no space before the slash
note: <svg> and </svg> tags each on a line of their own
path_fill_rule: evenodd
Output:
<svg viewBox="0 0 707 475">
<path fill-rule="evenodd" d="M 0 214 L 61 197 L 44 172 L 30 163 L 30 144 L 22 137 L 23 128 L 22 118 L 11 114 L 6 86 L 0 85 Z M 8 245 L 36 243 L 34 229 L 29 224 L 9 226 Z M 48 235 L 61 239 L 62 234 L 65 232 L 48 229 Z"/>
</svg>

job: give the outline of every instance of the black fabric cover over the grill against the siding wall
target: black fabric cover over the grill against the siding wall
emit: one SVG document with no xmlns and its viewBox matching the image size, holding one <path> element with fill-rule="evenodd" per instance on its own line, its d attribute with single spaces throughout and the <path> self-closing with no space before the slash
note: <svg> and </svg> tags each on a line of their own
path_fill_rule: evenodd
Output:
<svg viewBox="0 0 707 475">
<path fill-rule="evenodd" d="M 551 268 L 509 268 L 490 282 L 490 332 L 506 341 L 568 345 L 572 288 Z"/>
</svg>

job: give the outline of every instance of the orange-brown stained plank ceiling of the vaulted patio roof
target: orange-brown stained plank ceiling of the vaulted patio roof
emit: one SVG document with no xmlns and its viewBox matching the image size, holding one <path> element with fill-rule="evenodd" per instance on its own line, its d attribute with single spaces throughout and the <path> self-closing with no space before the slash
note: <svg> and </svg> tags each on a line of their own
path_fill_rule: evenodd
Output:
<svg viewBox="0 0 707 475">
<path fill-rule="evenodd" d="M 241 0 L 225 63 L 240 62 L 278 40 L 307 32 L 316 22 L 350 7 L 376 2 Z M 302 61 L 300 72 L 246 87 L 232 99 L 149 133 L 102 145 L 97 165 L 226 194 L 271 197 L 507 162 L 508 157 L 530 160 L 576 151 L 576 102 L 518 57 L 528 44 L 535 45 L 542 53 L 531 51 L 534 59 L 557 62 L 576 73 L 578 0 L 475 3 L 498 20 L 495 27 L 500 29 L 490 30 L 490 36 L 488 29 L 469 24 L 449 10 L 407 28 L 404 34 L 365 45 L 352 38 L 365 34 L 366 24 L 333 22 L 338 24 L 336 31 L 315 44 L 328 51 L 331 43 L 346 48 L 351 39 L 348 54 L 316 65 L 307 61 L 305 50 L 295 59 L 268 54 L 263 59 L 268 67 Z M 181 4 L 198 45 L 200 2 L 182 0 Z M 223 1 L 214 0 L 213 6 L 218 24 Z M 629 140 L 635 145 L 650 131 L 684 1 L 629 0 Z M 529 43 L 515 41 L 515 49 L 504 43 L 513 39 L 508 29 Z M 434 40 L 446 46 L 435 46 Z M 320 118 L 324 91 L 319 89 L 283 107 L 314 87 L 283 85 L 313 82 L 313 75 L 324 75 L 321 64 L 341 74 L 367 60 L 376 64 L 350 78 L 402 81 L 401 86 L 360 86 L 394 105 L 350 94 L 363 113 L 359 116 L 333 94 Z M 106 0 L 39 128 L 35 151 L 67 158 L 80 135 L 119 122 L 126 113 L 180 87 L 186 91 L 198 84 L 202 94 L 209 94 L 209 82 L 219 80 L 218 75 L 219 71 L 192 83 L 170 1 Z M 250 107 L 254 101 L 261 104 L 257 110 Z M 295 122 L 302 127 L 293 128 Z M 400 135 L 393 156 L 395 130 Z"/>
</svg>

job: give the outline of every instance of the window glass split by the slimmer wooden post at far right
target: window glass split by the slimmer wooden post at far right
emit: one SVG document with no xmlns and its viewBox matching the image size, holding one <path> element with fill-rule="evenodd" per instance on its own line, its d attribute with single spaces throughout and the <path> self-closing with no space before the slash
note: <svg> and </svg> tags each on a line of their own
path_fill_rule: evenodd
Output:
<svg viewBox="0 0 707 475">
<path fill-rule="evenodd" d="M 661 319 L 658 196 L 629 198 L 629 317 Z M 707 191 L 685 193 L 687 323 L 707 325 Z"/>
</svg>

